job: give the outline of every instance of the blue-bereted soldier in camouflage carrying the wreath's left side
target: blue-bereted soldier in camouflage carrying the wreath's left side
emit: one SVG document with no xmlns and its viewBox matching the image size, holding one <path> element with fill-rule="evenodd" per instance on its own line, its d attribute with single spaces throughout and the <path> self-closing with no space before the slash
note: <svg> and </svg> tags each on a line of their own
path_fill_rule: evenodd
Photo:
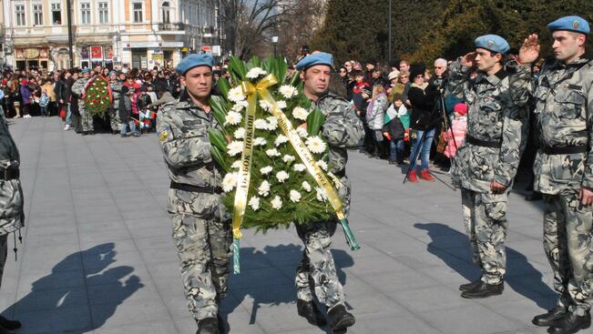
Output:
<svg viewBox="0 0 593 334">
<path fill-rule="evenodd" d="M 210 157 L 208 129 L 220 124 L 208 99 L 212 88 L 209 55 L 184 58 L 176 71 L 186 90 L 162 107 L 157 119 L 160 146 L 169 169 L 169 215 L 181 260 L 181 277 L 198 333 L 222 331 L 220 300 L 227 294 L 230 215 L 220 202 L 223 177 Z"/>
</svg>

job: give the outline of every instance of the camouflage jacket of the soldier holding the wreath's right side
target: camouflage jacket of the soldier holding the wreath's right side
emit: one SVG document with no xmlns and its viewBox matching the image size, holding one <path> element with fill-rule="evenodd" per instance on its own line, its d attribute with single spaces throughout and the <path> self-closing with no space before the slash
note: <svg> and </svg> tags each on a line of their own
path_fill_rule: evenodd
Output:
<svg viewBox="0 0 593 334">
<path fill-rule="evenodd" d="M 348 161 L 347 148 L 358 147 L 364 137 L 363 123 L 343 97 L 328 93 L 312 103 L 325 116 L 322 136 L 330 146 L 331 172 L 342 171 Z"/>
</svg>

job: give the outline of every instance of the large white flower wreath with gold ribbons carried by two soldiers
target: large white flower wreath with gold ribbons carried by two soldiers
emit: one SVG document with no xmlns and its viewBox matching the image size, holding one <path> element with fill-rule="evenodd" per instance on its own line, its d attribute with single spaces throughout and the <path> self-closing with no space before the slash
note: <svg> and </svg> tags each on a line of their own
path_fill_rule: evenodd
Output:
<svg viewBox="0 0 593 334">
<path fill-rule="evenodd" d="M 334 190 L 339 181 L 328 173 L 324 116 L 302 93 L 299 74 L 287 77 L 287 70 L 281 58 L 231 58 L 232 85 L 220 79 L 221 96 L 210 98 L 223 125 L 222 132 L 210 129 L 209 137 L 212 157 L 227 172 L 222 202 L 233 212 L 235 272 L 240 228 L 265 232 L 337 215 L 358 248 Z"/>
</svg>

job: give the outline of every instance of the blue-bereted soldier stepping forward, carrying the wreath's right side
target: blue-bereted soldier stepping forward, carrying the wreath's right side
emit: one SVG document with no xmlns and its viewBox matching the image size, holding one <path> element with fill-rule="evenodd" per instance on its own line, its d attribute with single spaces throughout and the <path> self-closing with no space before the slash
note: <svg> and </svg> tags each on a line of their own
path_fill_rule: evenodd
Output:
<svg viewBox="0 0 593 334">
<path fill-rule="evenodd" d="M 302 58 L 296 67 L 297 70 L 302 70 L 304 92 L 312 100 L 312 108 L 320 108 L 325 116 L 322 136 L 330 146 L 330 171 L 342 183 L 342 187 L 337 190 L 347 214 L 350 205 L 350 181 L 345 173 L 347 148 L 359 146 L 364 136 L 363 124 L 356 116 L 353 106 L 342 97 L 328 92 L 332 55 L 313 53 Z M 337 223 L 336 219 L 332 219 L 296 226 L 305 245 L 296 274 L 297 310 L 310 323 L 323 326 L 326 321 L 314 303 L 313 296 L 317 297 L 328 309 L 328 319 L 333 331 L 345 330 L 353 326 L 355 321 L 354 316 L 344 307 L 343 287 L 336 275 L 330 250 Z"/>
</svg>

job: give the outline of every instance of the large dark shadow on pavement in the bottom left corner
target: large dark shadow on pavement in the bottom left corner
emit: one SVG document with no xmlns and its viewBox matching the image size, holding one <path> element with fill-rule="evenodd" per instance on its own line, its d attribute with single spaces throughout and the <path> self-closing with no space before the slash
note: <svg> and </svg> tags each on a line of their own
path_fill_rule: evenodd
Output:
<svg viewBox="0 0 593 334">
<path fill-rule="evenodd" d="M 56 331 L 81 334 L 100 328 L 113 316 L 118 305 L 144 287 L 138 276 L 129 276 L 134 271 L 132 267 L 119 266 L 106 270 L 116 262 L 116 255 L 115 244 L 111 242 L 68 255 L 52 268 L 51 274 L 37 279 L 31 291 L 5 309 L 3 314 L 9 318 L 15 315 L 23 323 L 23 333 Z M 81 260 L 83 275 L 78 273 L 77 276 L 76 269 L 80 270 Z M 80 280 L 81 276 L 84 281 Z M 128 278 L 121 281 L 125 277 Z M 82 315 L 88 314 L 84 310 L 88 309 L 93 309 L 93 312 L 88 319 L 83 319 L 86 317 Z M 43 319 L 50 318 L 47 314 L 56 319 Z M 77 315 L 80 319 L 74 319 Z"/>
</svg>

